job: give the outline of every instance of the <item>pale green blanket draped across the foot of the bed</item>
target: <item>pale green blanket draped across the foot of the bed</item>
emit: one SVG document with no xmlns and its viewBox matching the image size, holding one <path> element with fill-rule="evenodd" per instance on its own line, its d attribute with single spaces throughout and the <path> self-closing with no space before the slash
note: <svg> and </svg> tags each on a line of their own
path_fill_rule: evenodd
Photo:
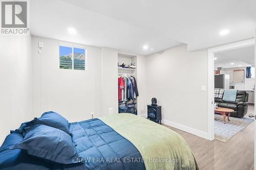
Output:
<svg viewBox="0 0 256 170">
<path fill-rule="evenodd" d="M 186 141 L 173 130 L 130 113 L 99 119 L 135 145 L 147 170 L 199 169 Z"/>
</svg>

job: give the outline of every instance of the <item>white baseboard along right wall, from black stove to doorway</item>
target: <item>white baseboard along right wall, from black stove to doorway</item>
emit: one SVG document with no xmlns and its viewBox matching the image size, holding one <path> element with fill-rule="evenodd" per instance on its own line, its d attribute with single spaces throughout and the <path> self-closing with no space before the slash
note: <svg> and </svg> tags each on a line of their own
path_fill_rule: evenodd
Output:
<svg viewBox="0 0 256 170">
<path fill-rule="evenodd" d="M 174 127 L 176 129 L 191 133 L 193 135 L 208 139 L 208 133 L 203 132 L 203 131 L 199 131 L 193 128 L 189 128 L 187 126 L 181 125 L 181 124 L 177 124 L 174 122 L 171 122 L 170 120 L 166 120 L 166 119 L 162 119 L 162 123 L 171 127 Z"/>
</svg>

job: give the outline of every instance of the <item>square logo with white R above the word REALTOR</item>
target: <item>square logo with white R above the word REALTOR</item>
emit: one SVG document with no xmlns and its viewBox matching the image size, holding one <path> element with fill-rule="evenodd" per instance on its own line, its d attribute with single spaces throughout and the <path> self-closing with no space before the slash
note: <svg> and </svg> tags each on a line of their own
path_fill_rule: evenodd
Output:
<svg viewBox="0 0 256 170">
<path fill-rule="evenodd" d="M 27 28 L 27 2 L 2 2 L 2 28 Z"/>
</svg>

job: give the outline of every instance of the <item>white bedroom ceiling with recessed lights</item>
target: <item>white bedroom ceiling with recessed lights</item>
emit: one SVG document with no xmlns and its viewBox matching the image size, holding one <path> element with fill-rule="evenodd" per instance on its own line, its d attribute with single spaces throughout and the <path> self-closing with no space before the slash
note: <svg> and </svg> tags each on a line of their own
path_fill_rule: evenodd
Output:
<svg viewBox="0 0 256 170">
<path fill-rule="evenodd" d="M 181 43 L 198 50 L 254 37 L 255 6 L 254 0 L 33 0 L 30 30 L 143 55 Z M 68 27 L 78 34 L 69 35 Z M 220 36 L 222 29 L 229 34 Z"/>
</svg>

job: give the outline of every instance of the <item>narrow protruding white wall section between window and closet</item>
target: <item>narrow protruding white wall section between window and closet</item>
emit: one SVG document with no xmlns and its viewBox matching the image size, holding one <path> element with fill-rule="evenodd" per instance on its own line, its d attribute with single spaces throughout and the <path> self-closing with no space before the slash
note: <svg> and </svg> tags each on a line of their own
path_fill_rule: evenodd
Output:
<svg viewBox="0 0 256 170">
<path fill-rule="evenodd" d="M 101 116 L 118 113 L 117 50 L 102 47 L 101 50 Z"/>
</svg>

